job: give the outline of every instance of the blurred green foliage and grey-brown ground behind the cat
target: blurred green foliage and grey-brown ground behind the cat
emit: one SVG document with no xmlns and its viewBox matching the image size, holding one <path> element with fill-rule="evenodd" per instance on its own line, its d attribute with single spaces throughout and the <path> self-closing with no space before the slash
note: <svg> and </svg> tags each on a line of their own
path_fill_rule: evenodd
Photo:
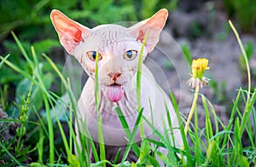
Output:
<svg viewBox="0 0 256 167">
<path fill-rule="evenodd" d="M 208 77 L 212 81 L 202 92 L 212 100 L 218 114 L 227 122 L 236 89 L 247 87 L 245 62 L 228 20 L 232 20 L 245 45 L 254 88 L 256 77 L 256 1 L 254 0 L 1 0 L 0 55 L 10 54 L 8 60 L 25 69 L 26 72 L 32 73 L 32 69 L 28 66 L 29 62 L 21 56 L 20 49 L 11 34 L 12 31 L 15 32 L 27 53 L 31 53 L 31 46 L 34 47 L 47 77 L 47 87 L 61 96 L 59 78 L 41 56 L 42 53 L 49 55 L 60 69 L 63 68 L 65 50 L 62 49 L 49 20 L 52 9 L 59 9 L 71 19 L 92 28 L 105 23 L 144 20 L 162 8 L 169 11 L 165 32 L 177 41 L 186 60 L 189 63 L 192 58 L 197 57 L 206 57 L 210 60 L 211 72 L 208 73 Z M 163 43 L 165 44 L 165 41 Z M 167 76 L 172 75 L 175 69 L 171 62 L 166 60 L 158 62 L 165 68 Z M 176 85 L 178 81 L 170 77 L 169 83 Z M 19 107 L 24 98 L 22 95 L 26 95 L 29 89 L 27 85 L 30 85 L 28 79 L 14 72 L 9 66 L 2 66 L 0 107 L 9 116 L 14 118 L 19 116 Z M 175 87 L 172 91 L 179 101 L 181 95 L 178 95 Z M 187 100 L 183 99 L 187 101 L 187 106 L 184 108 L 189 108 L 191 92 L 188 93 L 189 95 L 184 94 L 185 98 L 187 97 Z M 44 105 L 40 92 L 36 90 L 33 92 L 32 103 L 34 104 L 32 109 L 42 111 L 44 118 Z M 184 114 L 186 111 L 185 109 Z M 31 120 L 37 118 L 32 112 L 29 117 Z M 29 131 L 33 127 L 28 126 L 27 129 Z M 33 130 L 33 133 L 28 135 L 30 143 L 33 142 L 33 137 L 38 136 L 35 135 L 36 131 Z M 58 140 L 55 142 L 58 144 Z"/>
</svg>

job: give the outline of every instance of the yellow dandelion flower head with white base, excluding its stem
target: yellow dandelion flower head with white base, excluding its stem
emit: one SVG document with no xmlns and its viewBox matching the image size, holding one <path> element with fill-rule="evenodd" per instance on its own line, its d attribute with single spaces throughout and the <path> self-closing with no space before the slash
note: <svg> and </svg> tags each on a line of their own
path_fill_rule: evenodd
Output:
<svg viewBox="0 0 256 167">
<path fill-rule="evenodd" d="M 209 78 L 204 77 L 206 70 L 209 70 L 208 61 L 205 58 L 199 58 L 192 61 L 191 70 L 192 76 L 188 81 L 189 86 L 195 88 L 197 85 L 203 87 L 209 82 Z"/>
</svg>

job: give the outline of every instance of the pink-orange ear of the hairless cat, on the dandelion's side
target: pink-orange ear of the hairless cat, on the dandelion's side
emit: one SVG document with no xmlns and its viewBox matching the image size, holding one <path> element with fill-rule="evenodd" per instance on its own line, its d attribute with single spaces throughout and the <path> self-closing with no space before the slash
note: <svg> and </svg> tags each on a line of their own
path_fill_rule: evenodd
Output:
<svg viewBox="0 0 256 167">
<path fill-rule="evenodd" d="M 160 11 L 149 19 L 138 22 L 136 25 L 129 28 L 131 30 L 131 34 L 137 37 L 137 41 L 141 42 L 143 42 L 143 39 L 148 32 L 148 38 L 145 44 L 148 53 L 151 52 L 159 42 L 160 32 L 166 25 L 167 17 L 168 11 L 166 9 L 160 9 Z"/>
</svg>

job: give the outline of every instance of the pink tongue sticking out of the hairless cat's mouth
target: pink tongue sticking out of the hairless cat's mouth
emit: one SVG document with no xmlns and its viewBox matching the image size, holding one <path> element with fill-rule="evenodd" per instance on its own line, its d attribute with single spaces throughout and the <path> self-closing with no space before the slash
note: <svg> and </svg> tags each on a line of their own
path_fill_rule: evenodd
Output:
<svg viewBox="0 0 256 167">
<path fill-rule="evenodd" d="M 107 88 L 107 97 L 109 101 L 119 101 L 124 95 L 124 91 L 120 85 L 111 85 Z"/>
</svg>

